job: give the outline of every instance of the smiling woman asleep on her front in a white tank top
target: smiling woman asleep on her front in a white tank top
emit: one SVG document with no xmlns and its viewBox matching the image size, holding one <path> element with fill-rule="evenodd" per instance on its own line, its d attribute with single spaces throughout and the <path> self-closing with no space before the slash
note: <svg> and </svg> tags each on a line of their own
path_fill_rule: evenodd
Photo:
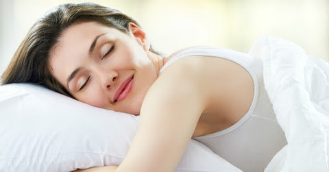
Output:
<svg viewBox="0 0 329 172">
<path fill-rule="evenodd" d="M 160 56 L 136 21 L 82 3 L 60 5 L 34 24 L 2 81 L 141 115 L 119 167 L 87 171 L 173 171 L 192 137 L 243 171 L 263 171 L 286 141 L 262 69 L 257 58 L 213 47 Z"/>
</svg>

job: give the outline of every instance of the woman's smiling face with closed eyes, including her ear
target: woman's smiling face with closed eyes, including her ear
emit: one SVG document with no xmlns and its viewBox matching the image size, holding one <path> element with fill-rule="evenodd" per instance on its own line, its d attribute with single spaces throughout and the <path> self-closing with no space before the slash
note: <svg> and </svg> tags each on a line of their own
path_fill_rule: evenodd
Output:
<svg viewBox="0 0 329 172">
<path fill-rule="evenodd" d="M 95 22 L 64 30 L 51 51 L 53 76 L 75 99 L 91 106 L 139 114 L 158 72 L 148 58 L 145 33 L 130 34 Z"/>
</svg>

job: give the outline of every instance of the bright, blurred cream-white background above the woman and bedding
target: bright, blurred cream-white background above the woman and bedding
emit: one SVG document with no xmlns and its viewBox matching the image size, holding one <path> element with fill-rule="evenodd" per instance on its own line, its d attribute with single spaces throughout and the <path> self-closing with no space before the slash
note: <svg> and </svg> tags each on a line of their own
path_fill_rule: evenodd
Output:
<svg viewBox="0 0 329 172">
<path fill-rule="evenodd" d="M 60 3 L 83 1 L 0 0 L 0 73 L 29 27 Z M 133 16 L 152 45 L 170 54 L 210 45 L 247 53 L 260 35 L 291 40 L 329 62 L 328 0 L 104 0 L 93 1 Z"/>
</svg>

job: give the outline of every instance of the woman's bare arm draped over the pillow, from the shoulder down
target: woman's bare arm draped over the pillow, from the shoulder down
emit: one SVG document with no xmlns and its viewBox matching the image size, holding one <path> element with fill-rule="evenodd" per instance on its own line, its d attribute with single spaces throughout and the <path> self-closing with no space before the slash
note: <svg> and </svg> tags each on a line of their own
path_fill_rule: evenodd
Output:
<svg viewBox="0 0 329 172">
<path fill-rule="evenodd" d="M 193 62 L 178 60 L 151 86 L 119 171 L 173 171 L 206 106 Z M 169 69 L 170 68 L 170 69 Z"/>
</svg>

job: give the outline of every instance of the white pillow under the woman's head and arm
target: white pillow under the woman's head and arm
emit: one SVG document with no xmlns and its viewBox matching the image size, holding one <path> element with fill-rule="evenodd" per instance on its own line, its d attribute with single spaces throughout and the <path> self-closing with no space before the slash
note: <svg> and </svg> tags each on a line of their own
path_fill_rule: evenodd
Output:
<svg viewBox="0 0 329 172">
<path fill-rule="evenodd" d="M 0 171 L 73 171 L 121 163 L 138 116 L 34 84 L 0 86 Z M 239 171 L 191 140 L 175 171 Z"/>
</svg>

